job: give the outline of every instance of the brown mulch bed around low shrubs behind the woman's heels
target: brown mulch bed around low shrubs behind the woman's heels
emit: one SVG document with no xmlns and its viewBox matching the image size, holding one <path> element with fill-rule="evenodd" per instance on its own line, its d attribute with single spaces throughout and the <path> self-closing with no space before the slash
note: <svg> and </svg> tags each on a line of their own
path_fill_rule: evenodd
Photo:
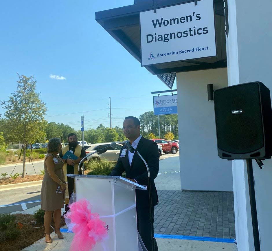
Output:
<svg viewBox="0 0 272 251">
<path fill-rule="evenodd" d="M 26 248 L 32 245 L 34 242 L 44 237 L 44 227 L 41 228 L 33 228 L 32 224 L 35 222 L 35 218 L 33 215 L 27 214 L 15 214 L 16 215 L 16 223 L 21 223 L 23 225 L 21 229 L 21 234 L 19 234 L 16 238 L 8 241 L 4 241 L 0 243 L 0 251 L 19 251 L 23 248 Z M 34 221 L 34 222 L 31 222 Z M 52 219 L 51 223 L 52 227 L 55 228 L 54 221 Z M 60 226 L 66 225 L 64 218 L 61 217 Z M 19 225 L 18 225 L 19 226 Z M 39 227 L 34 225 L 35 227 Z M 53 232 L 53 229 L 52 229 Z M 55 233 L 53 233 L 55 234 Z M 51 234 L 51 238 L 53 237 Z"/>
</svg>

